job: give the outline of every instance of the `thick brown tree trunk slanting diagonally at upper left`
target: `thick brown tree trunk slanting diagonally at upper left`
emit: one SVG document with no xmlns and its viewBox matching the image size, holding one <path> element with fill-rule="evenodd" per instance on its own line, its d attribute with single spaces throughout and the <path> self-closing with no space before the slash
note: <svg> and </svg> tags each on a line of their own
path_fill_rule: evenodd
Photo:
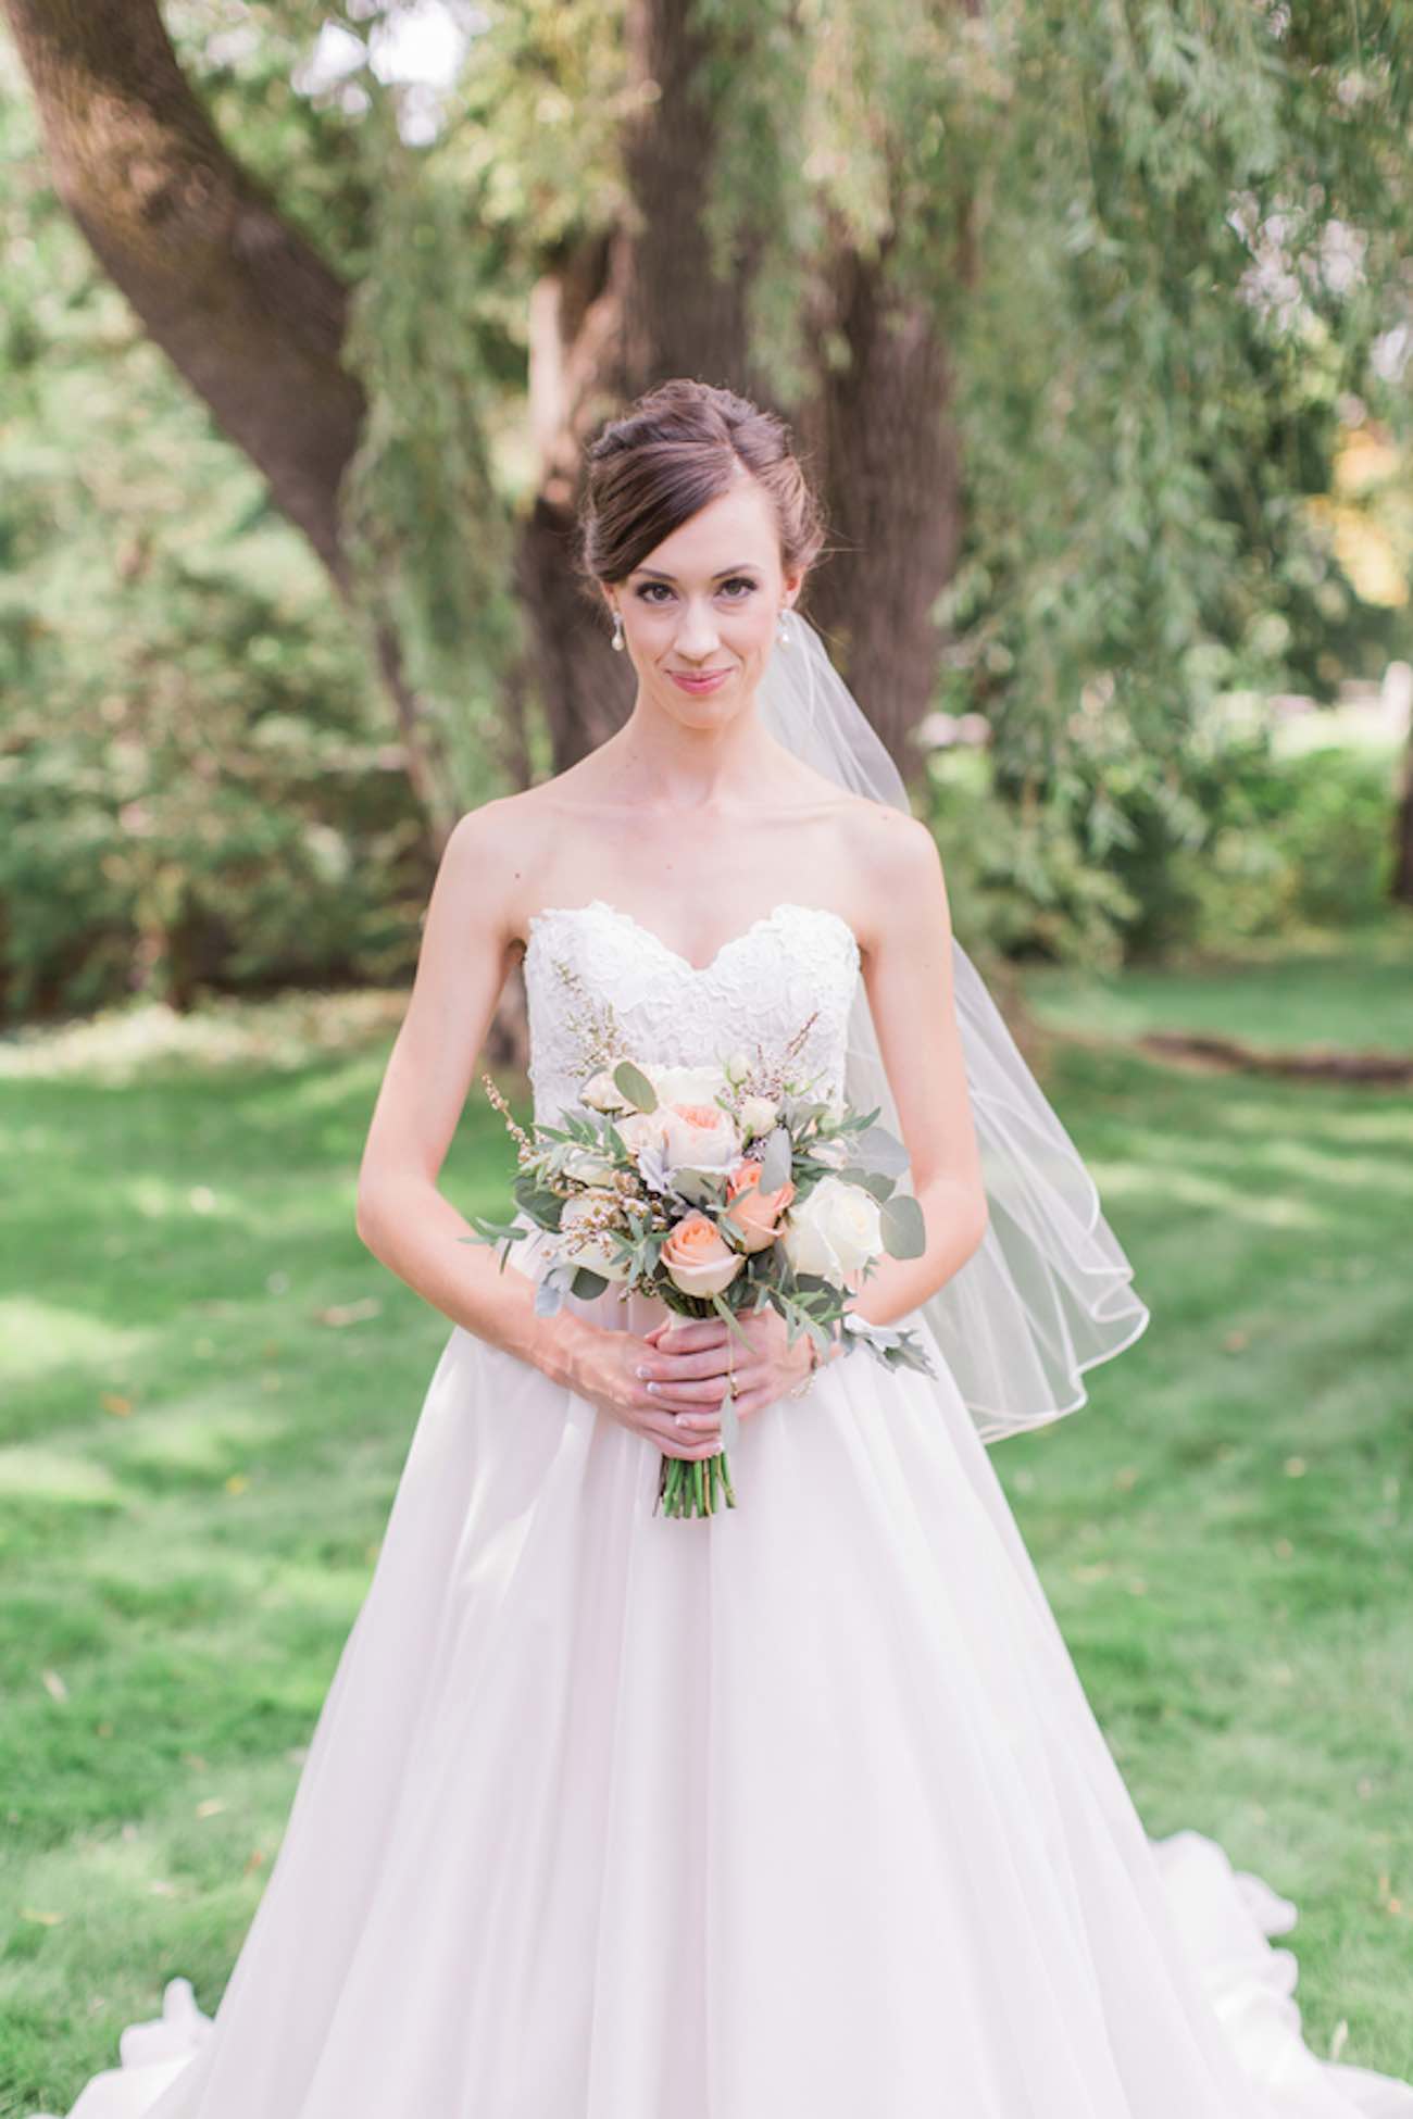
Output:
<svg viewBox="0 0 1413 2119">
<path fill-rule="evenodd" d="M 269 481 L 350 595 L 339 483 L 364 396 L 341 362 L 347 288 L 227 153 L 157 0 L 0 0 L 55 191 L 144 331 Z M 375 661 L 439 850 L 447 797 L 388 627 Z"/>
</svg>

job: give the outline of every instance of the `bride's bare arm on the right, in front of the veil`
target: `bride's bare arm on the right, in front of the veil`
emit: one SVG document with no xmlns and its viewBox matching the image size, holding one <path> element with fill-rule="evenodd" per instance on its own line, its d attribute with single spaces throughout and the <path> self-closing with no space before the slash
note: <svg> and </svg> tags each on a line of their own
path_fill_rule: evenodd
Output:
<svg viewBox="0 0 1413 2119">
<path fill-rule="evenodd" d="M 892 1324 L 966 1265 L 987 1229 L 987 1195 L 951 996 L 951 909 L 936 841 L 919 818 L 871 807 L 869 873 L 879 911 L 864 985 L 926 1248 L 917 1259 L 881 1259 L 852 1307 L 871 1324 Z"/>
</svg>

